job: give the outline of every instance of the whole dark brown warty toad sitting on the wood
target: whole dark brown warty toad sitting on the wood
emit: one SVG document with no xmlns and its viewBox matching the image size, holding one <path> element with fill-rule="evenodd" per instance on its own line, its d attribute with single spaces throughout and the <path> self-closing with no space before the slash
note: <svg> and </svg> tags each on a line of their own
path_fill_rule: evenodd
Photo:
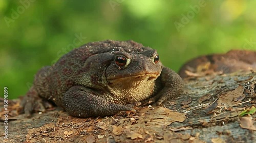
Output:
<svg viewBox="0 0 256 143">
<path fill-rule="evenodd" d="M 180 76 L 162 65 L 155 49 L 106 40 L 82 45 L 40 69 L 22 109 L 27 116 L 45 111 L 45 98 L 71 116 L 108 116 L 134 111 L 133 103 L 148 99 L 160 105 L 182 89 Z"/>
</svg>

